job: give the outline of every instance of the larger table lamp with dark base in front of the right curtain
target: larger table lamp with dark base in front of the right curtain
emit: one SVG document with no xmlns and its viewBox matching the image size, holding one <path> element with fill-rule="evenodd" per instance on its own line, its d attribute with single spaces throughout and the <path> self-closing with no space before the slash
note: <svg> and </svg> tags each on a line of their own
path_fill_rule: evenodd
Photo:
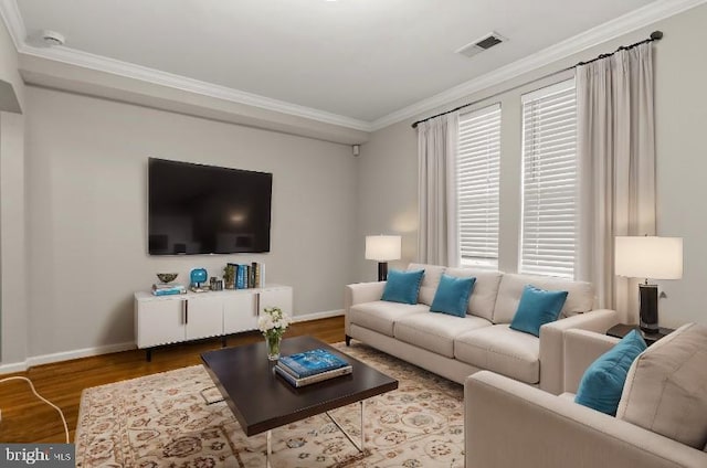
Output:
<svg viewBox="0 0 707 468">
<path fill-rule="evenodd" d="M 630 278 L 645 278 L 639 285 L 640 326 L 647 333 L 657 333 L 658 286 L 651 279 L 683 277 L 683 238 L 656 236 L 616 236 L 615 274 Z"/>
</svg>

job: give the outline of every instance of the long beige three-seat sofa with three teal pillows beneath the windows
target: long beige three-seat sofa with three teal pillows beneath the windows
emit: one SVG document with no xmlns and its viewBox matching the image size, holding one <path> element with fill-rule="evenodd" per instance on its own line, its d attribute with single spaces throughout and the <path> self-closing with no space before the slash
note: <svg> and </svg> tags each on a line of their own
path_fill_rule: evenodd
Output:
<svg viewBox="0 0 707 468">
<path fill-rule="evenodd" d="M 363 341 L 458 383 L 486 369 L 560 393 L 562 332 L 604 332 L 619 321 L 614 310 L 592 310 L 594 291 L 588 283 L 436 265 L 408 269 L 425 272 L 415 305 L 381 300 L 384 281 L 346 286 L 347 343 Z M 442 273 L 476 278 L 466 317 L 430 312 Z M 539 338 L 508 327 L 529 284 L 569 292 L 560 319 L 542 326 Z"/>
</svg>

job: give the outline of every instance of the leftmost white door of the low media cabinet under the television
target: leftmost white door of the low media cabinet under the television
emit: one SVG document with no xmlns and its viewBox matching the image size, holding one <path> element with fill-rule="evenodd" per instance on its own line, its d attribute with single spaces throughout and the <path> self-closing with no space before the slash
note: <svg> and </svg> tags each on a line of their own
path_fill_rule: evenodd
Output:
<svg viewBox="0 0 707 468">
<path fill-rule="evenodd" d="M 137 301 L 137 347 L 184 341 L 184 299 Z"/>
</svg>

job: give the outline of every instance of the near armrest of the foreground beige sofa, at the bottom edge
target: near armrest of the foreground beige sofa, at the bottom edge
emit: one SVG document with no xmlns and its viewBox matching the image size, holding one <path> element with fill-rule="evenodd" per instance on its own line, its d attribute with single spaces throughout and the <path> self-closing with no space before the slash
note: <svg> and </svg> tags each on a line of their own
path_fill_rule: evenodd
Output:
<svg viewBox="0 0 707 468">
<path fill-rule="evenodd" d="M 707 454 L 488 371 L 464 385 L 466 468 L 697 468 Z"/>
</svg>

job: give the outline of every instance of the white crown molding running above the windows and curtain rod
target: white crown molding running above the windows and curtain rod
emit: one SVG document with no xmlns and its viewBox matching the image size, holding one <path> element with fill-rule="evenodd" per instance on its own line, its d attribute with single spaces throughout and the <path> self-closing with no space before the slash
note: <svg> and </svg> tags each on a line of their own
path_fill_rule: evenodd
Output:
<svg viewBox="0 0 707 468">
<path fill-rule="evenodd" d="M 707 0 L 665 0 L 654 1 L 639 10 L 634 10 L 566 41 L 559 42 L 540 52 L 520 59 L 508 65 L 494 70 L 485 75 L 469 79 L 426 99 L 395 110 L 371 123 L 372 131 L 397 124 L 399 121 L 419 117 L 423 113 L 449 106 L 457 99 L 478 93 L 498 83 L 518 77 L 525 73 L 550 65 L 562 59 L 574 55 L 583 50 L 600 45 L 637 29 L 651 25 L 665 18 L 682 13 L 698 7 Z"/>
</svg>

